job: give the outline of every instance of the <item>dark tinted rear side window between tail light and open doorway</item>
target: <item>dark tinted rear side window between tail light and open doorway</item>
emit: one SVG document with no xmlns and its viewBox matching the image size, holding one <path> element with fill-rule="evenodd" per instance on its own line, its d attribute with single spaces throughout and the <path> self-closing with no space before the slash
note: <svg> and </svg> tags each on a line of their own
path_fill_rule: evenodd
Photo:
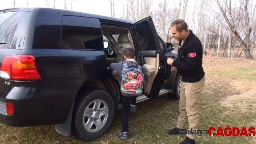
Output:
<svg viewBox="0 0 256 144">
<path fill-rule="evenodd" d="M 71 49 L 103 49 L 99 19 L 63 16 L 62 42 Z"/>
</svg>

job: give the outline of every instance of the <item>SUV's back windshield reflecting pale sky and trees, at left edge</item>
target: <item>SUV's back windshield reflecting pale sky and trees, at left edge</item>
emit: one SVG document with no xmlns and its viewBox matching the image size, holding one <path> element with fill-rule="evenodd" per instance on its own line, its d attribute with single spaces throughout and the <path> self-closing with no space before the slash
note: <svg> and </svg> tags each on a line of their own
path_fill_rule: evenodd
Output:
<svg viewBox="0 0 256 144">
<path fill-rule="evenodd" d="M 22 49 L 30 12 L 0 13 L 0 48 Z"/>
</svg>

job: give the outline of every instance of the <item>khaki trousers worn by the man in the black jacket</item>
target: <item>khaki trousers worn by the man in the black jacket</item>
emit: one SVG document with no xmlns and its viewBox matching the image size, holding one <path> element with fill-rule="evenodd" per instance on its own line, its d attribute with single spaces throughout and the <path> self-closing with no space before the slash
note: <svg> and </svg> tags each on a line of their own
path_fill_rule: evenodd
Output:
<svg viewBox="0 0 256 144">
<path fill-rule="evenodd" d="M 180 115 L 177 122 L 177 128 L 186 129 L 186 122 L 189 123 L 188 130 L 199 129 L 199 109 L 201 105 L 202 89 L 205 86 L 205 76 L 195 83 L 181 82 L 180 88 Z M 195 140 L 196 135 L 186 135 Z"/>
</svg>

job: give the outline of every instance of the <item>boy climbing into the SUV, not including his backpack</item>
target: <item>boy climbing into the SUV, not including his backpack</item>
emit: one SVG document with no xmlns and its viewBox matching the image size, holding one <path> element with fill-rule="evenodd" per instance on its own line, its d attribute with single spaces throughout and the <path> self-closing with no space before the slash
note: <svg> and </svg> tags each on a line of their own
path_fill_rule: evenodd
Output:
<svg viewBox="0 0 256 144">
<path fill-rule="evenodd" d="M 137 65 L 137 62 L 135 60 L 135 51 L 132 48 L 125 48 L 124 50 L 124 59 L 125 62 L 127 62 L 128 65 Z M 117 70 L 119 72 L 120 78 L 121 80 L 122 78 L 122 72 L 123 72 L 123 62 L 118 62 L 118 63 L 113 63 L 110 64 L 109 69 L 110 70 Z M 141 66 L 140 66 L 141 67 Z M 147 79 L 147 74 L 145 74 L 145 72 L 142 69 L 142 73 L 144 74 L 144 79 Z M 131 110 L 131 104 L 135 106 L 136 103 L 136 98 L 137 96 L 121 96 L 122 98 L 122 122 L 123 122 L 123 126 L 122 126 L 122 131 L 120 133 L 120 136 L 122 139 L 127 139 L 128 138 L 128 119 L 129 119 L 129 113 Z M 132 103 L 131 103 L 132 100 Z M 132 110 L 131 110 L 132 111 Z"/>
</svg>

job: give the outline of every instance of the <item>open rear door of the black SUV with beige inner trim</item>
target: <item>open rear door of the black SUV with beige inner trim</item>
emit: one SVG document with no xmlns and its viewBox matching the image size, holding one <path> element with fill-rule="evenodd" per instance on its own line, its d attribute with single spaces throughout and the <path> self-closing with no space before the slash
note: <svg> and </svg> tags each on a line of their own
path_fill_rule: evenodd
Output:
<svg viewBox="0 0 256 144">
<path fill-rule="evenodd" d="M 161 52 L 159 38 L 152 18 L 146 17 L 133 25 L 137 37 L 136 61 L 148 75 L 144 83 L 144 95 L 157 99 L 164 81 L 171 75 L 171 66 Z"/>
</svg>

